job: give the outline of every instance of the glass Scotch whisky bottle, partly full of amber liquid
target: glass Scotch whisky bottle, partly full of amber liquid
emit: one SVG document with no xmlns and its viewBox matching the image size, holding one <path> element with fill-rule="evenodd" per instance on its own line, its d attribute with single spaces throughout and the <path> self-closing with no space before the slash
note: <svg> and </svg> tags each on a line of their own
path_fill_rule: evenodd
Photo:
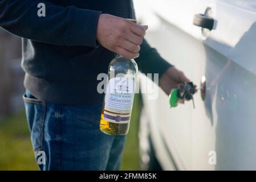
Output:
<svg viewBox="0 0 256 182">
<path fill-rule="evenodd" d="M 108 84 L 101 111 L 100 130 L 108 135 L 126 135 L 132 114 L 138 67 L 133 59 L 117 55 L 109 63 Z"/>
</svg>

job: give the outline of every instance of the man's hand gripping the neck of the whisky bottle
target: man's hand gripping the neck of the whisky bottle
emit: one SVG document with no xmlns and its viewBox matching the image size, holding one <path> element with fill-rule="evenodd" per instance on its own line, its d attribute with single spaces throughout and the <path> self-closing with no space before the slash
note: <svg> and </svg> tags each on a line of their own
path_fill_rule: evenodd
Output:
<svg viewBox="0 0 256 182">
<path fill-rule="evenodd" d="M 101 46 L 129 59 L 139 57 L 140 44 L 148 26 L 109 14 L 101 14 L 97 24 L 96 39 Z"/>
</svg>

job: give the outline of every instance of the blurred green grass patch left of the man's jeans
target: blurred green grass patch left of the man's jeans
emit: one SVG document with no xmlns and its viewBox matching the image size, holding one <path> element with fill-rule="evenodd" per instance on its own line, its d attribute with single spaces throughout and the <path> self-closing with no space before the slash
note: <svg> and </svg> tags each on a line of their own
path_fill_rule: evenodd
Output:
<svg viewBox="0 0 256 182">
<path fill-rule="evenodd" d="M 0 123 L 0 170 L 37 170 L 25 112 Z"/>
</svg>

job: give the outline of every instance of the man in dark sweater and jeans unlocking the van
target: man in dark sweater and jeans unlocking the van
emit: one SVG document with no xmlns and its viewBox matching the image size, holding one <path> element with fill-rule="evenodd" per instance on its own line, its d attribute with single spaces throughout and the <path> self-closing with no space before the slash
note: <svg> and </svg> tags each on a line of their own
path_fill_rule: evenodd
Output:
<svg viewBox="0 0 256 182">
<path fill-rule="evenodd" d="M 189 82 L 143 39 L 147 26 L 127 18 L 135 18 L 130 0 L 0 0 L 0 26 L 22 37 L 32 146 L 46 154 L 40 169 L 119 169 L 125 137 L 100 132 L 96 80 L 116 54 L 159 73 L 166 94 Z"/>
</svg>

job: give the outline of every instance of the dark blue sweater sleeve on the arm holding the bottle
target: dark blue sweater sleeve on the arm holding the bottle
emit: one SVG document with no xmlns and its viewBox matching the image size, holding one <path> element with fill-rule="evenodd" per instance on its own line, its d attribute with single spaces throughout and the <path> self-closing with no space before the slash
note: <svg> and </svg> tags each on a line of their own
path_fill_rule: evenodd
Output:
<svg viewBox="0 0 256 182">
<path fill-rule="evenodd" d="M 38 16 L 39 3 L 44 3 L 46 16 Z M 96 28 L 100 13 L 75 6 L 56 6 L 41 0 L 0 0 L 0 27 L 42 43 L 97 47 Z"/>
</svg>

